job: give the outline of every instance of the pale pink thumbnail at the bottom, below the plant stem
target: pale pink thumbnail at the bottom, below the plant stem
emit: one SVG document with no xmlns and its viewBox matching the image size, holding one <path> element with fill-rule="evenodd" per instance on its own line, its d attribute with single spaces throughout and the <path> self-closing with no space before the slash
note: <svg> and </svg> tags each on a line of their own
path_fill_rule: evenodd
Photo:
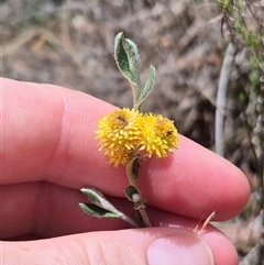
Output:
<svg viewBox="0 0 264 265">
<path fill-rule="evenodd" d="M 175 229 L 173 235 L 158 238 L 147 247 L 150 265 L 213 265 L 213 255 L 206 242 L 193 231 Z"/>
</svg>

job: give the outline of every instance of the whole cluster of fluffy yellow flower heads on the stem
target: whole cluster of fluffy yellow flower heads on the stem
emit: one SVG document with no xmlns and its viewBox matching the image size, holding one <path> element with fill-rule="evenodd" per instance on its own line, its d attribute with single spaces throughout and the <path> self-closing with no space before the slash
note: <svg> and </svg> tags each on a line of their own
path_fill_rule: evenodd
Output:
<svg viewBox="0 0 264 265">
<path fill-rule="evenodd" d="M 173 121 L 153 113 L 143 114 L 123 108 L 105 115 L 98 122 L 97 137 L 114 166 L 125 165 L 136 153 L 147 157 L 167 156 L 178 146 L 178 133 Z"/>
</svg>

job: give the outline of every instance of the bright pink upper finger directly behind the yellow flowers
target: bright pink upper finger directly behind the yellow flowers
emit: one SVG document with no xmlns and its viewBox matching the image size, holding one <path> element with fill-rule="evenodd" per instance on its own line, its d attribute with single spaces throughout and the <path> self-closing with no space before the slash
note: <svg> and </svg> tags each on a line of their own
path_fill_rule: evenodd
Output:
<svg viewBox="0 0 264 265">
<path fill-rule="evenodd" d="M 55 86 L 3 79 L 3 184 L 48 180 L 123 196 L 124 170 L 108 165 L 94 133 L 112 106 Z M 143 162 L 140 176 L 150 205 L 193 218 L 232 218 L 249 197 L 238 168 L 183 136 L 175 155 Z"/>
</svg>

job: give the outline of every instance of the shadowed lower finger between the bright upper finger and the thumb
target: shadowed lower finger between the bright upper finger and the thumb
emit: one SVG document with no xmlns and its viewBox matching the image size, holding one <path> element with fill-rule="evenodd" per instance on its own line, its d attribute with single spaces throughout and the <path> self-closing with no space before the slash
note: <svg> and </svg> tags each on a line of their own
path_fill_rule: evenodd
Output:
<svg viewBox="0 0 264 265">
<path fill-rule="evenodd" d="M 117 209 L 135 219 L 132 202 L 113 197 L 108 199 Z M 0 236 L 6 240 L 19 236 L 26 240 L 28 235 L 43 239 L 131 228 L 119 219 L 90 217 L 79 209 L 79 202 L 88 202 L 80 191 L 47 181 L 7 185 L 1 190 Z M 147 206 L 146 212 L 154 227 L 195 230 L 200 222 L 202 224 L 200 220 L 180 217 L 151 206 Z"/>
</svg>

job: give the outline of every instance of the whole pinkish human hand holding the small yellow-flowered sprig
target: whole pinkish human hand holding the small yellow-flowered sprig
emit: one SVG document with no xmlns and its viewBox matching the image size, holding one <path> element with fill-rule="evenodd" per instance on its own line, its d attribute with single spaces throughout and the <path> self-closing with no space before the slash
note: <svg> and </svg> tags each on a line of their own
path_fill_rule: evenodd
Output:
<svg viewBox="0 0 264 265">
<path fill-rule="evenodd" d="M 114 107 L 51 85 L 1 85 L 3 264 L 207 265 L 213 264 L 210 255 L 215 264 L 238 264 L 233 245 L 217 229 L 193 232 L 213 210 L 221 221 L 245 206 L 249 185 L 237 167 L 180 136 L 175 155 L 141 165 L 139 187 L 156 228 L 91 218 L 78 207 L 86 200 L 82 187 L 133 212 L 123 198 L 123 167 L 109 165 L 95 140 L 97 121 Z"/>
</svg>

